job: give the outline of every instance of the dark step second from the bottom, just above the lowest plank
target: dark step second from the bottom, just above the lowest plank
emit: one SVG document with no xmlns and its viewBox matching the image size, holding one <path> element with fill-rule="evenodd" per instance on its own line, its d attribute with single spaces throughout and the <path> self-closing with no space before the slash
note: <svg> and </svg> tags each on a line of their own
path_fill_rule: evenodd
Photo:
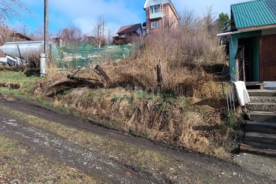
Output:
<svg viewBox="0 0 276 184">
<path fill-rule="evenodd" d="M 257 132 L 247 132 L 244 136 L 244 143 L 253 147 L 275 150 L 276 135 Z"/>
</svg>

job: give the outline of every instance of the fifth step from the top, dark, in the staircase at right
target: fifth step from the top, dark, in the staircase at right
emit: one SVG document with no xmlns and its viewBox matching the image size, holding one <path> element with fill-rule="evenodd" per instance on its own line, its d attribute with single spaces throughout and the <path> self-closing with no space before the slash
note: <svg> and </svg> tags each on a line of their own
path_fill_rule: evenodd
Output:
<svg viewBox="0 0 276 184">
<path fill-rule="evenodd" d="M 248 121 L 245 131 L 276 134 L 276 122 Z"/>
</svg>

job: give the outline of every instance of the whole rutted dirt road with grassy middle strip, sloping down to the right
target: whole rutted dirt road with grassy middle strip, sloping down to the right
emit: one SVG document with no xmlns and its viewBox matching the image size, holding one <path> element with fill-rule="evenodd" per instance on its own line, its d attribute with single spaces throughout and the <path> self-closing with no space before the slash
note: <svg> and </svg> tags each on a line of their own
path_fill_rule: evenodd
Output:
<svg viewBox="0 0 276 184">
<path fill-rule="evenodd" d="M 66 162 L 107 183 L 276 183 L 273 176 L 106 130 L 29 101 L 7 101 L 3 96 L 0 101 L 0 133 L 28 145 L 32 154 Z M 67 138 L 63 129 L 77 138 L 93 135 L 97 141 Z M 110 141 L 100 142 L 103 139 Z"/>
</svg>

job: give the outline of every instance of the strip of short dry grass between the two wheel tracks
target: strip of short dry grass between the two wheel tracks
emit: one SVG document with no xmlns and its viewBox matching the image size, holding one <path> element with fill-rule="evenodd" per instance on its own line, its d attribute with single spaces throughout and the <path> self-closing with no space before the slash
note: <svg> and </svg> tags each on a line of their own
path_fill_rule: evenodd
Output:
<svg viewBox="0 0 276 184">
<path fill-rule="evenodd" d="M 172 158 L 168 154 L 138 147 L 125 141 L 118 141 L 109 137 L 103 137 L 90 132 L 77 130 L 66 125 L 47 121 L 43 118 L 24 114 L 3 106 L 0 106 L 0 109 L 7 110 L 8 113 L 13 114 L 29 124 L 51 131 L 64 139 L 85 147 L 87 150 L 91 149 L 92 152 L 99 155 L 105 153 L 105 156 L 112 155 L 118 157 L 118 159 L 109 158 L 111 160 L 113 159 L 114 162 L 120 160 L 120 162 L 131 165 L 132 167 L 141 168 L 147 172 L 154 172 L 156 175 L 170 178 L 172 181 L 175 181 L 175 183 L 202 184 L 202 178 L 191 179 L 184 174 L 185 168 L 184 170 L 179 168 L 179 162 L 181 162 L 179 160 L 182 160 L 180 157 L 177 158 L 176 161 L 175 157 Z M 168 169 L 171 167 L 179 172 L 178 177 L 174 177 L 175 173 Z"/>
</svg>

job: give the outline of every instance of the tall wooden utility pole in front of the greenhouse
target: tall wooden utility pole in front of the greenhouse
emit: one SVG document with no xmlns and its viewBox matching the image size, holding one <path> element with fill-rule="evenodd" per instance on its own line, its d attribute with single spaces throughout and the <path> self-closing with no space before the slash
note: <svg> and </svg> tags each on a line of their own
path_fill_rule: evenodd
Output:
<svg viewBox="0 0 276 184">
<path fill-rule="evenodd" d="M 44 53 L 46 62 L 48 62 L 48 47 L 49 47 L 49 10 L 48 0 L 44 0 Z"/>
</svg>

